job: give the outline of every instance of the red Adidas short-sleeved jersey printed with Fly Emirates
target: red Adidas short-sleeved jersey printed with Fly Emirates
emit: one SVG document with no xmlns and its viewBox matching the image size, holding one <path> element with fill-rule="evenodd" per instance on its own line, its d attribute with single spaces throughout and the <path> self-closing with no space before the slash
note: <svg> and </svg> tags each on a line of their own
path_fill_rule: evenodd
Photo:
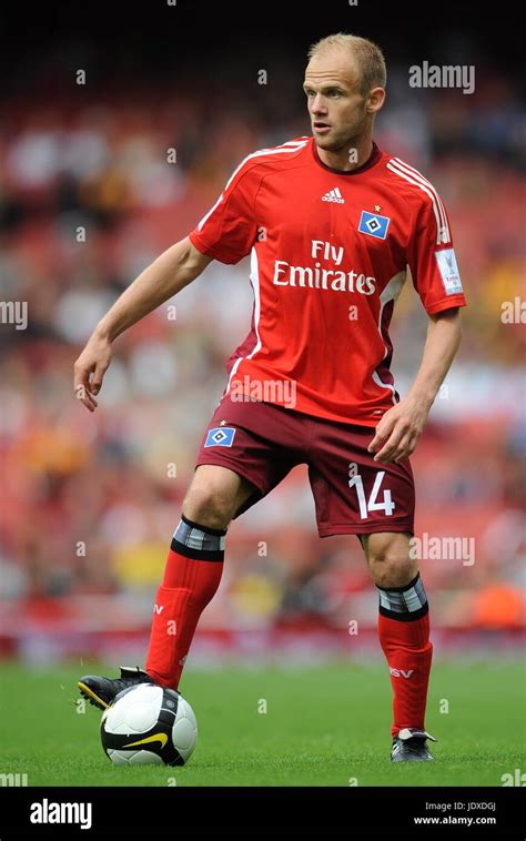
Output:
<svg viewBox="0 0 526 841">
<path fill-rule="evenodd" d="M 254 152 L 190 240 L 222 263 L 251 254 L 233 399 L 376 426 L 399 399 L 388 326 L 407 266 L 427 313 L 466 303 L 439 195 L 376 144 L 350 172 L 326 166 L 312 136 Z"/>
</svg>

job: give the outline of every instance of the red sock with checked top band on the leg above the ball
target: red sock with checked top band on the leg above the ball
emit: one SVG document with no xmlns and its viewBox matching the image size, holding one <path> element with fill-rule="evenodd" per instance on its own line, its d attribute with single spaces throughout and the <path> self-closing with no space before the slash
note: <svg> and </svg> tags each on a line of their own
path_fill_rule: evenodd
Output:
<svg viewBox="0 0 526 841">
<path fill-rule="evenodd" d="M 161 686 L 176 689 L 199 618 L 223 571 L 225 530 L 182 518 L 156 594 L 145 670 Z M 205 548 L 202 548 L 205 547 Z"/>
</svg>

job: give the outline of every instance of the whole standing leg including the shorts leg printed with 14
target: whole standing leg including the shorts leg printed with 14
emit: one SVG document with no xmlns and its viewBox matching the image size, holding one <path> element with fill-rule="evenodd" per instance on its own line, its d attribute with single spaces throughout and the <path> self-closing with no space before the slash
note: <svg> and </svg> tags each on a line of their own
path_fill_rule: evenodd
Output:
<svg viewBox="0 0 526 841">
<path fill-rule="evenodd" d="M 308 475 L 320 536 L 361 536 L 381 596 L 378 635 L 394 692 L 392 758 L 431 758 L 424 756 L 427 736 L 417 746 L 422 756 L 412 750 L 416 733 L 424 733 L 433 647 L 427 599 L 409 557 L 415 508 L 409 462 L 374 462 L 367 452 L 373 428 L 321 418 L 313 418 L 312 426 Z M 412 741 L 402 750 L 404 737 Z"/>
</svg>

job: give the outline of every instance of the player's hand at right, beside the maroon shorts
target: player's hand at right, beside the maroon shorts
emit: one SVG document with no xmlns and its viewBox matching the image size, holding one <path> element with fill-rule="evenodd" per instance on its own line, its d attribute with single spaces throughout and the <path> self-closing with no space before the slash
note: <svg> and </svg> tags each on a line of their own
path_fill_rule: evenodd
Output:
<svg viewBox="0 0 526 841">
<path fill-rule="evenodd" d="M 385 413 L 376 426 L 376 434 L 368 445 L 376 453 L 374 460 L 390 464 L 411 456 L 422 435 L 431 406 L 423 401 L 406 397 Z"/>
</svg>

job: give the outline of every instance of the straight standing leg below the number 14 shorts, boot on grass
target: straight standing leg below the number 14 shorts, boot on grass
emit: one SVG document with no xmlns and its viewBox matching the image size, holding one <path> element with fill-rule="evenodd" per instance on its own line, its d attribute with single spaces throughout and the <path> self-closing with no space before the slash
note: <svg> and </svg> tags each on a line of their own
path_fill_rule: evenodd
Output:
<svg viewBox="0 0 526 841">
<path fill-rule="evenodd" d="M 392 759 L 433 759 L 425 729 L 433 645 L 429 610 L 408 533 L 361 536 L 368 569 L 378 590 L 378 637 L 393 687 Z"/>
</svg>

